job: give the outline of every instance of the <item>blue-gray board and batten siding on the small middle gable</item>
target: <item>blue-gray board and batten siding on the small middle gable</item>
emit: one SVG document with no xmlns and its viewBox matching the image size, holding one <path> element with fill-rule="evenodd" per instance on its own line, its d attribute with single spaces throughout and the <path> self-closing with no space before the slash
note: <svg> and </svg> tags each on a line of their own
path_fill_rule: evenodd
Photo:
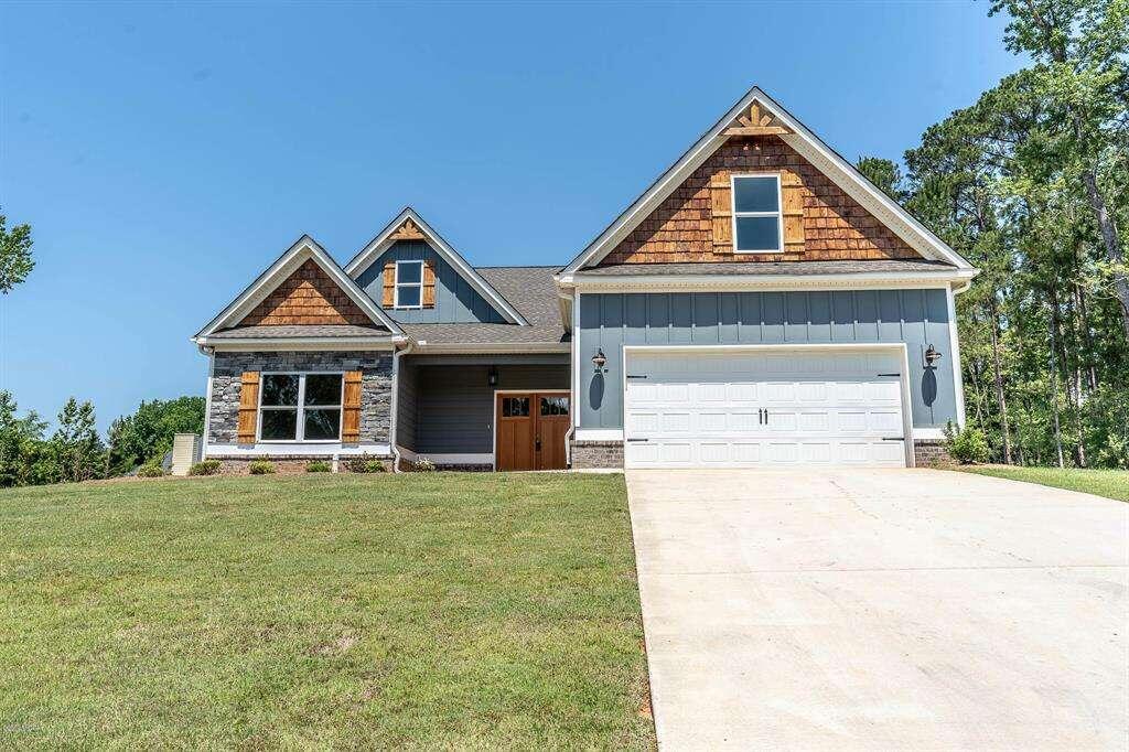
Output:
<svg viewBox="0 0 1129 752">
<path fill-rule="evenodd" d="M 431 261 L 435 266 L 435 307 L 385 308 L 394 321 L 402 324 L 505 323 L 502 315 L 423 241 L 396 241 L 357 278 L 357 283 L 374 300 L 384 297 L 384 264 L 388 261 Z"/>
</svg>

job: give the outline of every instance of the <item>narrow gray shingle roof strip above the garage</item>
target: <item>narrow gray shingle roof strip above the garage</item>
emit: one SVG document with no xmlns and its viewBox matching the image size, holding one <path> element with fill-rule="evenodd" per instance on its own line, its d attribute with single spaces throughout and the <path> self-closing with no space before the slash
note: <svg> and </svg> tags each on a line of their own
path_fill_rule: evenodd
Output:
<svg viewBox="0 0 1129 752">
<path fill-rule="evenodd" d="M 575 272 L 576 277 L 719 276 L 732 274 L 857 274 L 865 272 L 930 272 L 956 269 L 944 261 L 768 261 L 675 264 L 610 264 Z"/>
</svg>

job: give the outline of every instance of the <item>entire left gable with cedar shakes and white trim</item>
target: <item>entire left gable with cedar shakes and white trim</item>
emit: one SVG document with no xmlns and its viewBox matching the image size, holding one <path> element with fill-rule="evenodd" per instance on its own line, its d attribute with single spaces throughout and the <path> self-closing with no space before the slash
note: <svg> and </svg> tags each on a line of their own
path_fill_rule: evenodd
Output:
<svg viewBox="0 0 1129 752">
<path fill-rule="evenodd" d="M 208 322 L 195 339 L 237 325 L 365 324 L 403 334 L 314 238 L 303 235 Z"/>
</svg>

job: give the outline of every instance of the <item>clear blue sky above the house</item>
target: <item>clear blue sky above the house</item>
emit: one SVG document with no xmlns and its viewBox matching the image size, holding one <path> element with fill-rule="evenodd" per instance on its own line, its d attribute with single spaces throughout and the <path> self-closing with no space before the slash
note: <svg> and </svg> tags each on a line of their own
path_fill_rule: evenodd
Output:
<svg viewBox="0 0 1129 752">
<path fill-rule="evenodd" d="M 1019 61 L 987 3 L 0 5 L 0 206 L 37 265 L 0 388 L 105 428 L 203 394 L 189 338 L 303 233 L 404 204 L 476 265 L 564 263 L 747 88 L 900 157 Z"/>
</svg>

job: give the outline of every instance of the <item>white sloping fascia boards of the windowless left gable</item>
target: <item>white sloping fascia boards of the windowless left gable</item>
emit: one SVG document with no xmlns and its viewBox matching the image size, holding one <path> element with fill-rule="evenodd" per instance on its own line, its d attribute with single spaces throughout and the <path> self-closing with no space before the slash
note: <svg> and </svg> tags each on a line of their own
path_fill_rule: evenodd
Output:
<svg viewBox="0 0 1129 752">
<path fill-rule="evenodd" d="M 237 324 L 244 318 L 251 311 L 262 301 L 268 295 L 274 291 L 274 289 L 281 285 L 287 277 L 289 277 L 296 269 L 304 264 L 307 260 L 313 259 L 314 262 L 321 266 L 321 269 L 329 274 L 333 281 L 344 290 L 349 299 L 357 304 L 361 311 L 373 321 L 375 324 L 384 326 L 393 334 L 403 334 L 403 330 L 396 322 L 388 317 L 388 314 L 384 313 L 379 306 L 377 306 L 373 298 L 357 287 L 357 282 L 349 277 L 338 262 L 333 260 L 325 250 L 318 245 L 317 241 L 308 235 L 303 235 L 298 238 L 297 243 L 291 245 L 281 256 L 279 256 L 274 263 L 266 268 L 266 270 L 260 274 L 254 282 L 252 282 L 243 292 L 240 292 L 235 300 L 233 300 L 224 311 L 216 315 L 208 324 L 201 329 L 196 335 L 195 340 L 199 341 L 200 338 L 207 338 L 209 334 L 224 329 L 225 326 L 230 326 Z"/>
</svg>

